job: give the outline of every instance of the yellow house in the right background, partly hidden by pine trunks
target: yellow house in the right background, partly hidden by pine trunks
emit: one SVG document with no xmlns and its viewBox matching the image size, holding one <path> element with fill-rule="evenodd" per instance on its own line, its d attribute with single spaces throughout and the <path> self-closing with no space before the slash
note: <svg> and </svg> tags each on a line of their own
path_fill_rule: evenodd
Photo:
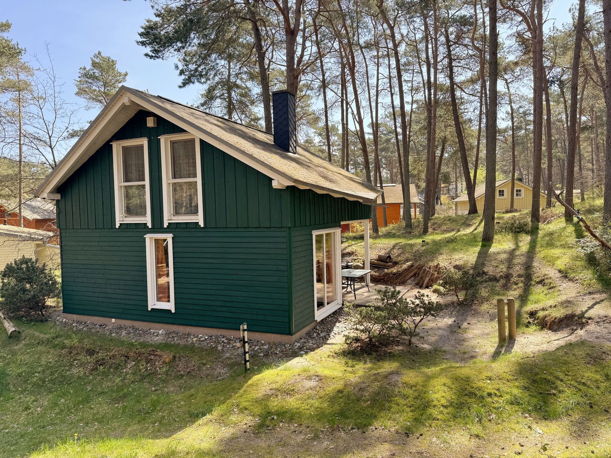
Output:
<svg viewBox="0 0 611 458">
<path fill-rule="evenodd" d="M 515 185 L 515 198 L 513 199 L 513 207 L 518 210 L 528 210 L 532 204 L 533 188 L 524 182 L 516 179 Z M 477 204 L 477 211 L 483 212 L 484 210 L 484 195 L 486 193 L 486 185 L 480 185 L 475 188 L 475 203 Z M 510 193 L 511 193 L 511 178 L 505 180 L 498 180 L 496 182 L 496 188 L 494 195 L 496 196 L 496 211 L 502 212 L 510 209 Z M 541 193 L 540 207 L 545 207 L 546 195 Z M 456 204 L 456 214 L 466 215 L 469 213 L 469 200 L 467 195 L 463 194 L 458 196 L 452 202 Z"/>
</svg>

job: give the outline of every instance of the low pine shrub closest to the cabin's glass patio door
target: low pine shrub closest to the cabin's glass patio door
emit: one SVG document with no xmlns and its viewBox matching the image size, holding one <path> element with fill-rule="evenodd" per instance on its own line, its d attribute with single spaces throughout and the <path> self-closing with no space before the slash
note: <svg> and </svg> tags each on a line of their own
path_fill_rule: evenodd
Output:
<svg viewBox="0 0 611 458">
<path fill-rule="evenodd" d="M 349 334 L 347 342 L 355 342 L 364 338 L 367 345 L 379 345 L 390 338 L 390 322 L 384 310 L 380 310 L 375 304 L 365 307 L 357 307 L 356 304 L 344 304 L 344 310 L 348 312 Z"/>
</svg>

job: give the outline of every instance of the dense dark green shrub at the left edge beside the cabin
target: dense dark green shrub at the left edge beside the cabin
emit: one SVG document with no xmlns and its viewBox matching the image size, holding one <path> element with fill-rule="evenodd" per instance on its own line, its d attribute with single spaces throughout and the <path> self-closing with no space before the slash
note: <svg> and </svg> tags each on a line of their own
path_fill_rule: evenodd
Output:
<svg viewBox="0 0 611 458">
<path fill-rule="evenodd" d="M 0 273 L 2 307 L 10 315 L 22 318 L 45 318 L 50 298 L 60 295 L 59 283 L 45 265 L 21 256 L 8 263 Z"/>
</svg>

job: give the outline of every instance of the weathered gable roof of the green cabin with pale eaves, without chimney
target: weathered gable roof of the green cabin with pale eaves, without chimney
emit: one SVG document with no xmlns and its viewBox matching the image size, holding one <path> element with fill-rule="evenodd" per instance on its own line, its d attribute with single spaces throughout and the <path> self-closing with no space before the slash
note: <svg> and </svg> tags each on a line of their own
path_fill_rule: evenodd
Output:
<svg viewBox="0 0 611 458">
<path fill-rule="evenodd" d="M 274 187 L 296 186 L 371 204 L 380 190 L 298 146 L 291 154 L 274 145 L 274 136 L 184 104 L 122 86 L 92 121 L 35 195 L 59 198 L 57 188 L 138 110 L 147 110 L 230 154 L 275 180 Z"/>
</svg>

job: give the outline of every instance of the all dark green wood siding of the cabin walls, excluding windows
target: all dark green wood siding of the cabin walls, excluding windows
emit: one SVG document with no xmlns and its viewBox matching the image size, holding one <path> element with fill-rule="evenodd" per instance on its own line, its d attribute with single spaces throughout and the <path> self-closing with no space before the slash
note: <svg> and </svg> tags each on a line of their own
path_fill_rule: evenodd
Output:
<svg viewBox="0 0 611 458">
<path fill-rule="evenodd" d="M 312 230 L 370 218 L 371 207 L 271 179 L 200 141 L 205 227 L 163 227 L 159 135 L 138 112 L 59 188 L 68 313 L 292 334 L 313 321 Z M 111 141 L 148 137 L 152 227 L 115 227 Z M 147 309 L 144 235 L 174 234 L 175 313 Z"/>
</svg>

